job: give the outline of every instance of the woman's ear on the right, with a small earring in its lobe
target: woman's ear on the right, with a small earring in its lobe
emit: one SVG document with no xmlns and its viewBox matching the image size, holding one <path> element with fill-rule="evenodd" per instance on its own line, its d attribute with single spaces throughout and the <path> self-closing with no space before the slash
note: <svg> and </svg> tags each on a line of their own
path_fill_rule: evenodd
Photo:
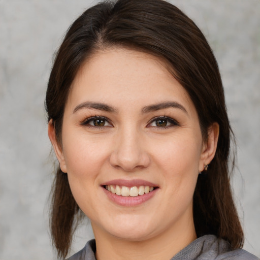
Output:
<svg viewBox="0 0 260 260">
<path fill-rule="evenodd" d="M 199 171 L 202 172 L 204 170 L 204 164 L 209 165 L 211 160 L 214 158 L 216 149 L 217 149 L 217 141 L 219 135 L 219 124 L 214 122 L 208 128 L 208 140 L 204 142 L 202 146 L 202 153 L 199 165 Z"/>
</svg>

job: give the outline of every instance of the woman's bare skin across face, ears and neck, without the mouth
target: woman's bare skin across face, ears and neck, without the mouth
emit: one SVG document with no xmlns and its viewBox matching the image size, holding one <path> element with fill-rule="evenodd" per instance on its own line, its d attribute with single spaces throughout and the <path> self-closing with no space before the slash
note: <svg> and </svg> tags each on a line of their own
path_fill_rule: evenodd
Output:
<svg viewBox="0 0 260 260">
<path fill-rule="evenodd" d="M 144 111 L 166 102 L 180 106 Z M 104 126 L 87 120 L 97 116 L 107 118 Z M 154 119 L 164 116 L 171 118 L 162 119 L 165 127 Z M 204 142 L 192 101 L 163 61 L 121 48 L 95 53 L 71 87 L 62 144 L 52 121 L 48 133 L 73 196 L 91 220 L 98 260 L 170 259 L 197 238 L 192 196 L 198 174 L 214 157 L 218 124 Z M 144 203 L 124 207 L 101 186 L 115 179 L 141 179 L 158 188 Z"/>
</svg>

